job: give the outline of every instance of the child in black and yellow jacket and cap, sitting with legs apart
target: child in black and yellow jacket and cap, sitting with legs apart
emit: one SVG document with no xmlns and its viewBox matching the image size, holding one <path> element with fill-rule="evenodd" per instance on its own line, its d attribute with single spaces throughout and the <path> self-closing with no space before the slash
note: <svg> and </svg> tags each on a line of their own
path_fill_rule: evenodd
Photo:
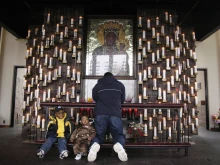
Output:
<svg viewBox="0 0 220 165">
<path fill-rule="evenodd" d="M 43 158 L 56 141 L 58 141 L 59 158 L 63 159 L 68 157 L 67 139 L 70 137 L 71 133 L 72 125 L 68 120 L 67 113 L 64 112 L 63 108 L 57 107 L 55 109 L 55 116 L 49 117 L 45 133 L 46 141 L 37 151 L 39 158 Z"/>
</svg>

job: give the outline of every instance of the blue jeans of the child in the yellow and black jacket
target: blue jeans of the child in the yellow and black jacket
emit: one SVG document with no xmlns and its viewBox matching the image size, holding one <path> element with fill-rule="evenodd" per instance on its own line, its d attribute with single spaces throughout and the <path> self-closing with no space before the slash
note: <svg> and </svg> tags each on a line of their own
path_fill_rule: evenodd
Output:
<svg viewBox="0 0 220 165">
<path fill-rule="evenodd" d="M 67 150 L 66 139 L 54 137 L 48 137 L 44 144 L 42 144 L 40 149 L 44 150 L 44 153 L 46 154 L 56 141 L 58 141 L 58 149 L 60 154 L 62 151 Z"/>
</svg>

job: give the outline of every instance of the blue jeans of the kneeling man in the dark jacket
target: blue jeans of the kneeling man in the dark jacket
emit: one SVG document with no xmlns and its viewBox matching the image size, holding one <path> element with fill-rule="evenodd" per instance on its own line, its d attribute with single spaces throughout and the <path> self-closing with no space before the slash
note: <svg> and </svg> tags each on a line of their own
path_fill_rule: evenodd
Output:
<svg viewBox="0 0 220 165">
<path fill-rule="evenodd" d="M 107 129 L 110 131 L 113 143 L 119 142 L 122 146 L 125 144 L 125 135 L 123 134 L 123 123 L 120 117 L 110 115 L 97 115 L 95 117 L 94 126 L 96 129 L 96 137 L 92 139 L 92 143 L 102 144 L 105 139 Z"/>
</svg>

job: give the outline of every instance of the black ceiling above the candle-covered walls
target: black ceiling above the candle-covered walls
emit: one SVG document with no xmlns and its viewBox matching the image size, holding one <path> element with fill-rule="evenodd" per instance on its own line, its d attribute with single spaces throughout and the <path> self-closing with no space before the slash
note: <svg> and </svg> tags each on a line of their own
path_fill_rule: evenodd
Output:
<svg viewBox="0 0 220 165">
<path fill-rule="evenodd" d="M 180 26 L 194 27 L 197 41 L 219 29 L 220 5 L 208 0 L 17 0 L 4 1 L 0 25 L 25 38 L 29 25 L 41 25 L 45 7 L 83 7 L 85 15 L 134 15 L 137 8 L 174 9 Z M 13 7 L 12 7 L 13 6 Z"/>
</svg>

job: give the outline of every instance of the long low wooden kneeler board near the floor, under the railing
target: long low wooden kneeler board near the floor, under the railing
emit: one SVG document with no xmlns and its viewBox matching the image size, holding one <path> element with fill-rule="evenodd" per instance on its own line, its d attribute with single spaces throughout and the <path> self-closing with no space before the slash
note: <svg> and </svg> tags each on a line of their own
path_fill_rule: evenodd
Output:
<svg viewBox="0 0 220 165">
<path fill-rule="evenodd" d="M 37 141 L 29 141 L 25 140 L 23 143 L 28 144 L 36 144 L 36 145 L 42 145 L 44 143 L 44 140 L 37 140 Z M 55 143 L 57 145 L 57 143 Z M 68 142 L 67 145 L 69 147 L 72 147 L 72 143 Z M 101 144 L 101 148 L 112 148 L 113 144 L 111 142 L 106 142 Z M 177 148 L 178 151 L 180 149 L 185 149 L 185 156 L 188 156 L 188 148 L 191 147 L 191 144 L 188 142 L 181 142 L 181 143 L 169 143 L 169 142 L 158 142 L 158 143 L 152 143 L 152 142 L 126 142 L 124 145 L 124 148 Z"/>
</svg>

